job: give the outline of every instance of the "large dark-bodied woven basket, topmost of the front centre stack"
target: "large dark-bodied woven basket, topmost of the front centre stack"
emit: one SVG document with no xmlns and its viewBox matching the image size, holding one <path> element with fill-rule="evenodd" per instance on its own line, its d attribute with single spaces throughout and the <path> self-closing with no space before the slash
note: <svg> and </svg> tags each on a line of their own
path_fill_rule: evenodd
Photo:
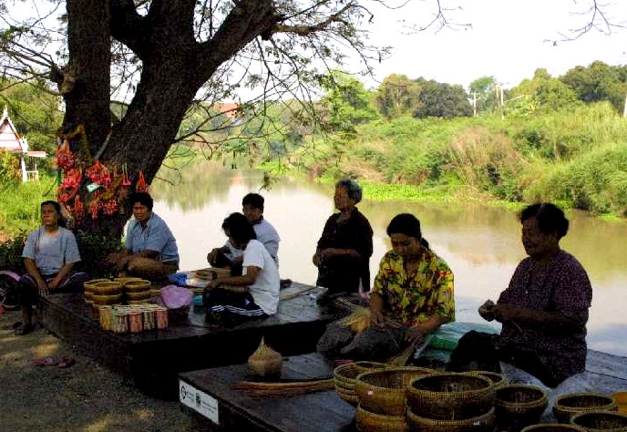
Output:
<svg viewBox="0 0 627 432">
<path fill-rule="evenodd" d="M 494 405 L 492 383 L 468 373 L 437 372 L 418 376 L 407 386 L 407 405 L 416 416 L 465 420 L 486 414 Z"/>
</svg>

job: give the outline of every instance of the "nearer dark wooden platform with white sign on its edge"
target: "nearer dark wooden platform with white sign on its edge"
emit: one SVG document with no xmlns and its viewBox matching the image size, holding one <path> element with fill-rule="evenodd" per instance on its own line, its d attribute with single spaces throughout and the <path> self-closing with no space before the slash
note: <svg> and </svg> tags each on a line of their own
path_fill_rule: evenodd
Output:
<svg viewBox="0 0 627 432">
<path fill-rule="evenodd" d="M 334 390 L 296 396 L 255 396 L 232 390 L 250 378 L 248 365 L 231 365 L 180 375 L 180 400 L 200 430 L 231 431 L 355 431 L 355 407 Z M 298 355 L 283 361 L 283 378 L 333 376 L 320 355 Z"/>
</svg>

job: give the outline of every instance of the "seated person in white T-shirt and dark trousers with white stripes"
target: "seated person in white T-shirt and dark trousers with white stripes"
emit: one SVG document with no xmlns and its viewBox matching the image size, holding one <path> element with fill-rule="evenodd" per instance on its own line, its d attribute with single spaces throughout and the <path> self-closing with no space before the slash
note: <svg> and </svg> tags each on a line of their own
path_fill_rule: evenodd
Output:
<svg viewBox="0 0 627 432">
<path fill-rule="evenodd" d="M 222 227 L 231 244 L 244 251 L 242 276 L 220 277 L 207 286 L 204 304 L 208 319 L 262 318 L 276 314 L 279 272 L 270 253 L 256 240 L 251 222 L 242 213 L 231 213 Z"/>
</svg>

